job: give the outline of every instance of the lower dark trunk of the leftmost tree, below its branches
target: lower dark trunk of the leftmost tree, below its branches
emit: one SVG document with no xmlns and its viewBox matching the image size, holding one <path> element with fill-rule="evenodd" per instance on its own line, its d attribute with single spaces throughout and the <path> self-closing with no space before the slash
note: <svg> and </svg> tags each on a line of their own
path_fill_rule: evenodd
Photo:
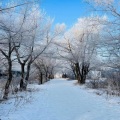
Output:
<svg viewBox="0 0 120 120">
<path fill-rule="evenodd" d="M 11 59 L 8 61 L 9 61 L 8 62 L 8 66 L 9 66 L 9 68 L 8 68 L 8 80 L 7 80 L 6 85 L 5 85 L 5 91 L 4 91 L 4 96 L 3 96 L 4 99 L 7 99 L 7 97 L 8 97 L 9 86 L 10 86 L 11 81 L 12 81 L 12 61 L 11 61 Z"/>
</svg>

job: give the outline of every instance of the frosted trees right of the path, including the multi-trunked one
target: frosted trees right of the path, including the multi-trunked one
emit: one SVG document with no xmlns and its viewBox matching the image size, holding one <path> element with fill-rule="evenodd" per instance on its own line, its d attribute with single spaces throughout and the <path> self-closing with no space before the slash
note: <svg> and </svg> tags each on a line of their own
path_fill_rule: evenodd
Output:
<svg viewBox="0 0 120 120">
<path fill-rule="evenodd" d="M 92 0 L 99 15 L 80 18 L 55 42 L 59 56 L 67 61 L 78 83 L 84 84 L 90 70 L 111 70 L 110 79 L 120 79 L 119 0 Z M 102 17 L 100 16 L 102 15 Z M 66 66 L 65 66 L 66 67 Z M 68 66 L 66 67 L 68 68 Z"/>
</svg>

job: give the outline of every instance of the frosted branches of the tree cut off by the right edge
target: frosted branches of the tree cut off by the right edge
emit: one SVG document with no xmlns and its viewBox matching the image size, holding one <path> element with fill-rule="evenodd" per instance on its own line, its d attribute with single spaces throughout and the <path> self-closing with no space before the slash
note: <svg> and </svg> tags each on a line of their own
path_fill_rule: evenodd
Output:
<svg viewBox="0 0 120 120">
<path fill-rule="evenodd" d="M 88 1 L 98 13 L 106 14 L 106 28 L 102 34 L 102 56 L 106 66 L 120 71 L 120 0 Z M 102 23 L 101 23 L 102 24 Z"/>
</svg>

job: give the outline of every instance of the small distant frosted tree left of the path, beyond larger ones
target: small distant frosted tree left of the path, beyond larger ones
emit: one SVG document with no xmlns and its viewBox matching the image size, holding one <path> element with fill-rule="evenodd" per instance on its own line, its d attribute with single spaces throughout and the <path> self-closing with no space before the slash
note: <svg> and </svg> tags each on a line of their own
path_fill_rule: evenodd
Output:
<svg viewBox="0 0 120 120">
<path fill-rule="evenodd" d="M 39 57 L 35 60 L 34 66 L 37 69 L 39 83 L 47 82 L 54 78 L 55 68 L 57 67 L 56 59 L 52 57 Z M 43 78 L 45 79 L 43 81 Z"/>
</svg>

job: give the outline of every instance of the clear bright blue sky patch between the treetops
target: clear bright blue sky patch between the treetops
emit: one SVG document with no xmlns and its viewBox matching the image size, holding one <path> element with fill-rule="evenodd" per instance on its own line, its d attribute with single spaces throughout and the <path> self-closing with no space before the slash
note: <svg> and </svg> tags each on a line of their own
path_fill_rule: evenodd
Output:
<svg viewBox="0 0 120 120">
<path fill-rule="evenodd" d="M 65 23 L 67 27 L 90 14 L 89 5 L 83 0 L 42 0 L 40 6 L 48 16 L 55 18 L 55 24 Z"/>
</svg>

